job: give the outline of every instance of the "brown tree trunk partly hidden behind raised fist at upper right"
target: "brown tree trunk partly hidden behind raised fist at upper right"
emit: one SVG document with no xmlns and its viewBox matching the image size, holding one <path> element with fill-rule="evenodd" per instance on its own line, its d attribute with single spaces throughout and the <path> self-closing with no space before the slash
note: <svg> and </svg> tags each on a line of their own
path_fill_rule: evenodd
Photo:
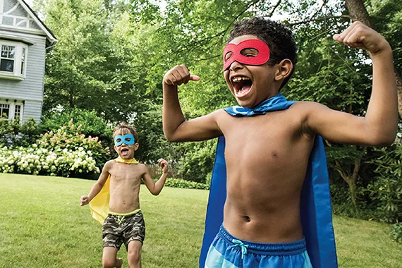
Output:
<svg viewBox="0 0 402 268">
<path fill-rule="evenodd" d="M 365 25 L 371 27 L 370 16 L 365 8 L 363 0 L 345 0 L 346 8 L 348 8 L 349 15 L 352 20 L 359 20 Z M 396 90 L 398 92 L 398 112 L 399 116 L 402 117 L 402 78 L 396 70 L 395 80 L 396 80 Z"/>
</svg>

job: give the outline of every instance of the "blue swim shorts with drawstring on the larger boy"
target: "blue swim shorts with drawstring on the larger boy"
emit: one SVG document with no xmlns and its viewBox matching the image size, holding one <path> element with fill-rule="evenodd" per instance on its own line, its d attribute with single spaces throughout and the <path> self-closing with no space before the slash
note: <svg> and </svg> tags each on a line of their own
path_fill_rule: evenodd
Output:
<svg viewBox="0 0 402 268">
<path fill-rule="evenodd" d="M 253 243 L 221 226 L 209 247 L 205 268 L 312 268 L 305 239 L 291 243 Z"/>
</svg>

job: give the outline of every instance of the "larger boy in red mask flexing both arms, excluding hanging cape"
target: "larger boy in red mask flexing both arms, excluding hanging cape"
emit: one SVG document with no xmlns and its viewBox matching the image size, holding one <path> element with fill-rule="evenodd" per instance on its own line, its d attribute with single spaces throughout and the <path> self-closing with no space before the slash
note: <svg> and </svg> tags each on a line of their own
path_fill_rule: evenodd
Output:
<svg viewBox="0 0 402 268">
<path fill-rule="evenodd" d="M 164 76 L 166 138 L 181 142 L 224 135 L 226 139 L 224 220 L 205 267 L 312 267 L 300 219 L 300 193 L 317 135 L 347 144 L 394 142 L 398 113 L 389 43 L 360 22 L 334 39 L 365 49 L 372 58 L 372 97 L 365 117 L 315 102 L 264 110 L 282 102 L 279 90 L 296 63 L 290 30 L 272 20 L 240 21 L 229 35 L 224 77 L 240 107 L 185 121 L 177 87 L 200 78 L 183 65 Z"/>
</svg>

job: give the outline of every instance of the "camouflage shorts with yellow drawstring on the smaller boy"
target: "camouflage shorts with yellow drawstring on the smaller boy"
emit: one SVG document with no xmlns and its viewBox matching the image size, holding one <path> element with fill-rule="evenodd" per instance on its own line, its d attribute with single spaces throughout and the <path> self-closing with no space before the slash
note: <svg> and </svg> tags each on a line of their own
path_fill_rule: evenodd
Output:
<svg viewBox="0 0 402 268">
<path fill-rule="evenodd" d="M 128 243 L 145 240 L 145 221 L 142 212 L 138 211 L 128 216 L 109 214 L 102 226 L 102 240 L 104 247 L 120 249 L 124 243 L 128 248 Z"/>
</svg>

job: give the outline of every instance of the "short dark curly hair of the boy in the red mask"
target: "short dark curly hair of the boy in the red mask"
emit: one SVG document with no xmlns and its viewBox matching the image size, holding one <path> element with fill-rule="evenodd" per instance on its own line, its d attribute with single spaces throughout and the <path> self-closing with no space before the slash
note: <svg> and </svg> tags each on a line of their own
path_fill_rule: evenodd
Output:
<svg viewBox="0 0 402 268">
<path fill-rule="evenodd" d="M 289 59 L 293 63 L 293 70 L 291 74 L 285 78 L 280 89 L 284 87 L 293 75 L 298 61 L 296 42 L 293 39 L 291 30 L 284 24 L 274 20 L 255 17 L 238 21 L 229 34 L 228 43 L 242 35 L 255 35 L 258 39 L 268 44 L 269 66 L 274 66 L 283 59 Z"/>
</svg>

